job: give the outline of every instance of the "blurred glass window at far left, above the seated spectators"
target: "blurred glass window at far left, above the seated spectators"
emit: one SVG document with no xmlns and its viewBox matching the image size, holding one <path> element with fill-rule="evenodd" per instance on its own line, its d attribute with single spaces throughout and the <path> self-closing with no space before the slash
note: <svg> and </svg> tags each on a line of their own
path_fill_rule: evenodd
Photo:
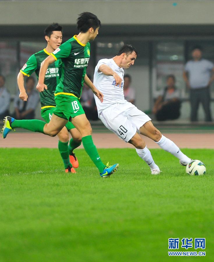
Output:
<svg viewBox="0 0 214 262">
<path fill-rule="evenodd" d="M 17 41 L 0 42 L 0 61 L 0 74 L 6 78 L 5 85 L 13 97 L 17 88 Z"/>
</svg>

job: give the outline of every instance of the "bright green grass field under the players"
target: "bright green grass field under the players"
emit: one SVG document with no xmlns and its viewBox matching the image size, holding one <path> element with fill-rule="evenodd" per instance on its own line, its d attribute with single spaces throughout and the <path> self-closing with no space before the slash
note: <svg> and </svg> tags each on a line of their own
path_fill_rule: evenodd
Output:
<svg viewBox="0 0 214 262">
<path fill-rule="evenodd" d="M 0 149 L 0 261 L 213 261 L 214 150 L 183 149 L 207 167 L 189 176 L 160 149 L 152 176 L 134 149 L 100 149 L 119 162 L 100 178 L 84 150 L 65 174 L 57 149 Z M 206 238 L 206 257 L 169 257 L 168 238 Z M 181 244 L 180 244 L 181 245 Z"/>
</svg>

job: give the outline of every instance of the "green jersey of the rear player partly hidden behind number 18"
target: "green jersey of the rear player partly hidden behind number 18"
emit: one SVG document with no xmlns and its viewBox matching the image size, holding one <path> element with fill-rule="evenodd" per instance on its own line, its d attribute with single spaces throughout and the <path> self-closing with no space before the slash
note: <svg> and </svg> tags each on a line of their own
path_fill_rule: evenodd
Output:
<svg viewBox="0 0 214 262">
<path fill-rule="evenodd" d="M 50 53 L 48 53 L 46 49 L 43 49 L 36 54 L 33 54 L 29 57 L 28 61 L 20 70 L 20 72 L 22 72 L 23 75 L 26 75 L 28 77 L 33 72 L 35 72 L 36 77 L 38 79 L 41 63 L 49 55 Z M 40 92 L 41 109 L 56 107 L 54 92 L 56 90 L 57 84 L 59 83 L 60 67 L 61 60 L 55 61 L 54 63 L 48 66 L 44 81 L 44 83 L 47 85 L 47 90 L 45 89 L 44 92 Z"/>
</svg>

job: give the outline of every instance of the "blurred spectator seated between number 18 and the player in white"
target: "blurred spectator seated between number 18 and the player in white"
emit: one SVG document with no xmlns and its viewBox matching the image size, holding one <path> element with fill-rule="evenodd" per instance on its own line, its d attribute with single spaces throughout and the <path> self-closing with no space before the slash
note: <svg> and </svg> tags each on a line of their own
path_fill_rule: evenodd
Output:
<svg viewBox="0 0 214 262">
<path fill-rule="evenodd" d="M 91 76 L 87 75 L 91 80 Z M 83 110 L 85 111 L 86 117 L 89 120 L 98 120 L 97 107 L 94 100 L 94 93 L 85 83 L 82 88 L 82 95 L 80 99 Z"/>
</svg>

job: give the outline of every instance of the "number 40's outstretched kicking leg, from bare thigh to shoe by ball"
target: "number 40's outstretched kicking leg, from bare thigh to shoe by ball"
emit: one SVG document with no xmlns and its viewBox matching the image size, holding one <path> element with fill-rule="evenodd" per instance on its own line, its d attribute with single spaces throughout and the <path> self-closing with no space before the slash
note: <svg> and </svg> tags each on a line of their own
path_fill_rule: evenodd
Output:
<svg viewBox="0 0 214 262">
<path fill-rule="evenodd" d="M 173 141 L 171 141 L 169 138 L 162 135 L 161 132 L 157 128 L 154 127 L 151 121 L 146 122 L 140 128 L 140 133 L 146 137 L 151 138 L 163 150 L 177 157 L 180 160 L 181 165 L 187 165 L 191 161 L 191 158 L 184 155 L 181 152 L 180 148 L 176 146 L 176 144 Z"/>
</svg>

